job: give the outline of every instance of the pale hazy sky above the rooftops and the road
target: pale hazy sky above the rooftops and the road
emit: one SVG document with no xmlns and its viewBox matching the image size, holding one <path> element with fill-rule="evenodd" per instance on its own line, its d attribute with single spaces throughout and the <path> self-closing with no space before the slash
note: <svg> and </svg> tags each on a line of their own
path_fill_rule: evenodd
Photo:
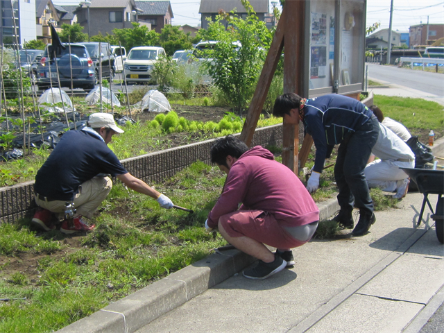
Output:
<svg viewBox="0 0 444 333">
<path fill-rule="evenodd" d="M 173 8 L 173 24 L 197 26 L 200 24 L 199 0 L 170 0 Z M 223 1 L 223 0 L 221 0 Z M 318 0 L 322 1 L 322 0 Z M 53 0 L 58 5 L 76 5 L 79 1 Z M 388 28 L 391 0 L 367 0 L 367 23 L 381 23 Z M 427 23 L 444 24 L 443 0 L 393 0 L 393 30 L 408 31 L 409 26 Z"/>
</svg>

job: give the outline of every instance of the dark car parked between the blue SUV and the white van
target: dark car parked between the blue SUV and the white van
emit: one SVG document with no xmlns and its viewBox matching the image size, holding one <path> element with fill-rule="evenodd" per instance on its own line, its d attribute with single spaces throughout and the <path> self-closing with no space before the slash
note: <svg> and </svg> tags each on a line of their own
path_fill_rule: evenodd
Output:
<svg viewBox="0 0 444 333">
<path fill-rule="evenodd" d="M 96 67 L 96 84 L 99 83 L 99 77 L 100 77 L 99 71 L 101 64 L 102 64 L 102 78 L 106 78 L 108 81 L 111 82 L 112 78 L 114 78 L 114 55 L 112 54 L 110 44 L 101 42 L 101 48 L 102 48 L 101 50 L 99 50 L 99 42 L 85 42 L 78 44 L 86 46 L 89 56 L 94 62 L 94 66 Z"/>
</svg>

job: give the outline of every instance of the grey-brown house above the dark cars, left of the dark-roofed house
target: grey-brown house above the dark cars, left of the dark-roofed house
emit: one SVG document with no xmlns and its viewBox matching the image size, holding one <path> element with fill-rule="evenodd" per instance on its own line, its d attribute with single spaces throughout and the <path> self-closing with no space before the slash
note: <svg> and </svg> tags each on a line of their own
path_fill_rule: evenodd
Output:
<svg viewBox="0 0 444 333">
<path fill-rule="evenodd" d="M 99 33 L 111 35 L 113 29 L 133 28 L 132 23 L 137 21 L 135 0 L 89 1 L 91 1 L 89 9 L 80 2 L 74 11 L 74 14 L 77 15 L 77 23 L 85 28 L 83 32 L 89 36 L 99 35 Z M 140 23 L 149 26 L 149 24 Z"/>
</svg>

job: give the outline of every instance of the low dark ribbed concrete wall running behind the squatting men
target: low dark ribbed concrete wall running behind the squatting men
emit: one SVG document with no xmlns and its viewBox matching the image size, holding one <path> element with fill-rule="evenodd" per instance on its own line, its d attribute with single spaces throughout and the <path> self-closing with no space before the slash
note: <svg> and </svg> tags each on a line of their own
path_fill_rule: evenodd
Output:
<svg viewBox="0 0 444 333">
<path fill-rule="evenodd" d="M 237 134 L 239 135 L 239 134 Z M 122 160 L 123 167 L 148 184 L 162 182 L 196 161 L 210 164 L 210 148 L 215 139 L 187 144 Z M 302 142 L 302 140 L 300 141 Z M 258 128 L 252 146 L 282 147 L 282 124 Z M 0 188 L 0 222 L 12 222 L 35 212 L 34 181 Z"/>
</svg>

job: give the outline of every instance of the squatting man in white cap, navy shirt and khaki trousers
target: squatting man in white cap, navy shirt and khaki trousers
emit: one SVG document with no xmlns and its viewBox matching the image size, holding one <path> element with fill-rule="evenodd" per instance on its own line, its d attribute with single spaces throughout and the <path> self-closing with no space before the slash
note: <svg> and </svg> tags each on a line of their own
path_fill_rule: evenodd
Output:
<svg viewBox="0 0 444 333">
<path fill-rule="evenodd" d="M 35 202 L 40 207 L 33 217 L 33 224 L 43 230 L 55 228 L 53 222 L 65 214 L 65 204 L 74 202 L 74 223 L 62 221 L 60 231 L 71 234 L 89 231 L 88 219 L 111 191 L 117 177 L 124 185 L 151 198 L 161 207 L 173 207 L 171 200 L 132 176 L 123 168 L 117 156 L 108 147 L 112 135 L 123 133 L 114 122 L 112 114 L 94 113 L 89 116 L 88 126 L 81 130 L 69 130 L 62 136 L 54 151 L 35 176 Z M 53 214 L 55 213 L 55 214 Z"/>
</svg>

